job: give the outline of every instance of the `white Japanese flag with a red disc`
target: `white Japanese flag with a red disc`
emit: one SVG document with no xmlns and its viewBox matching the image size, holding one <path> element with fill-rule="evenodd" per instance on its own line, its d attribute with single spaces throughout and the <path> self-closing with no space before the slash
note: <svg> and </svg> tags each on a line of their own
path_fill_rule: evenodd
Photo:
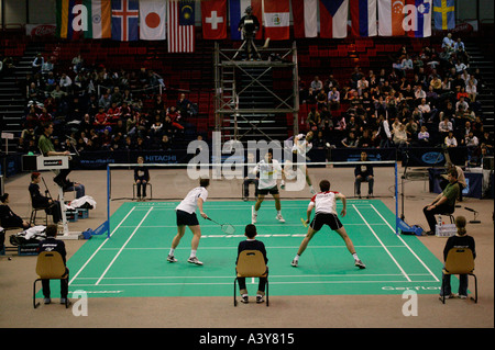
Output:
<svg viewBox="0 0 495 350">
<path fill-rule="evenodd" d="M 140 1 L 140 38 L 143 41 L 165 39 L 165 11 L 163 0 Z"/>
</svg>

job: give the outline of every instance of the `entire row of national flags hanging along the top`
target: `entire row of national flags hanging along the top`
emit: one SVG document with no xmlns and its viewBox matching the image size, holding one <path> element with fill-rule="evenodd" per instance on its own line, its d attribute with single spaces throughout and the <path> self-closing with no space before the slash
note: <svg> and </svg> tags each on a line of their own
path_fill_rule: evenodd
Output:
<svg viewBox="0 0 495 350">
<path fill-rule="evenodd" d="M 168 52 L 195 50 L 194 0 L 57 0 L 57 36 L 116 41 L 167 41 Z M 454 0 L 201 0 L 205 39 L 241 39 L 248 7 L 263 30 L 256 38 L 431 36 L 455 26 Z M 350 22 L 350 25 L 349 25 Z M 350 29 L 351 33 L 348 33 Z"/>
</svg>

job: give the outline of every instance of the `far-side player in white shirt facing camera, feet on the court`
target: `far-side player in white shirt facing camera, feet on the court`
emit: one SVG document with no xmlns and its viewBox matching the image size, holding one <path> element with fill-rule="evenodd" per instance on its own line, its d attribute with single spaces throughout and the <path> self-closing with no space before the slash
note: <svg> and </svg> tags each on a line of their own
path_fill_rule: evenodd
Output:
<svg viewBox="0 0 495 350">
<path fill-rule="evenodd" d="M 277 210 L 276 219 L 280 223 L 285 223 L 280 212 L 280 194 L 278 193 L 277 179 L 282 174 L 282 179 L 285 179 L 284 170 L 282 169 L 278 160 L 273 159 L 273 151 L 268 150 L 265 159 L 260 161 L 253 169 L 253 173 L 260 172 L 260 180 L 257 183 L 257 200 L 254 204 L 251 213 L 251 224 L 256 224 L 257 211 L 261 207 L 266 194 L 272 194 L 275 200 L 275 208 Z"/>
</svg>

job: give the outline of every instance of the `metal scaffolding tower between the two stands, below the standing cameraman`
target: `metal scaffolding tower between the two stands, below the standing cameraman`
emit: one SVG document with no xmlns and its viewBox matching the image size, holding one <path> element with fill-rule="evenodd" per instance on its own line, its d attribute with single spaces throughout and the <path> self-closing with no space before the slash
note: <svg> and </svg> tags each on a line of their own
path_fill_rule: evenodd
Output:
<svg viewBox="0 0 495 350">
<path fill-rule="evenodd" d="M 258 47 L 258 60 L 238 57 L 240 49 L 215 45 L 215 129 L 224 140 L 287 138 L 288 113 L 298 133 L 297 48 Z M 241 55 L 242 56 L 242 55 Z M 276 88 L 275 88 L 276 86 Z M 279 88 L 282 87 L 282 89 Z"/>
</svg>

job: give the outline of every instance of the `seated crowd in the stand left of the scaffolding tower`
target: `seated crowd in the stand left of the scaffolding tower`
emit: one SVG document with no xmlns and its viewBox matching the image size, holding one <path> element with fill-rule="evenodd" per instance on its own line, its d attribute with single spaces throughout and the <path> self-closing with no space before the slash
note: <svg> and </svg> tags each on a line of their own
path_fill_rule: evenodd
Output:
<svg viewBox="0 0 495 350">
<path fill-rule="evenodd" d="M 180 93 L 174 105 L 164 100 L 165 84 L 152 69 L 111 71 L 85 65 L 77 55 L 69 68 L 38 54 L 23 81 L 28 106 L 18 151 L 37 153 L 42 125 L 55 125 L 59 150 L 172 149 L 184 139 L 188 116 L 197 106 Z"/>
</svg>

